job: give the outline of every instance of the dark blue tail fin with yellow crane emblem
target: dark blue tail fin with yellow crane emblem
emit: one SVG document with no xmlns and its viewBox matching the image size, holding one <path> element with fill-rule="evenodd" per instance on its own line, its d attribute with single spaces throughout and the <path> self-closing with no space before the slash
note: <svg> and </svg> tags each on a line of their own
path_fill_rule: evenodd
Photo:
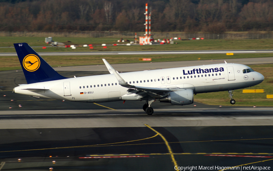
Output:
<svg viewBox="0 0 273 171">
<path fill-rule="evenodd" d="M 14 43 L 14 47 L 28 84 L 66 78 L 50 67 L 27 43 Z"/>
</svg>

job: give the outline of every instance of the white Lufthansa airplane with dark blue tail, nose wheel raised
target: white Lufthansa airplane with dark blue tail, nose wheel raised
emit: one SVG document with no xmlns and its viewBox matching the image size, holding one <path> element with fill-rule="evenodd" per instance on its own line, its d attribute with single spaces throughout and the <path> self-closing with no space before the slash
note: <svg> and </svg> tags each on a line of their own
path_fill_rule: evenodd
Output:
<svg viewBox="0 0 273 171">
<path fill-rule="evenodd" d="M 173 105 L 194 102 L 194 94 L 228 91 L 230 103 L 236 89 L 260 84 L 264 76 L 250 67 L 220 63 L 119 73 L 105 59 L 110 74 L 67 78 L 58 74 L 27 43 L 15 43 L 19 61 L 28 84 L 13 92 L 62 101 L 110 102 L 145 101 L 143 110 L 153 114 L 152 102 L 159 99 Z M 29 65 L 31 64 L 31 65 Z"/>
</svg>

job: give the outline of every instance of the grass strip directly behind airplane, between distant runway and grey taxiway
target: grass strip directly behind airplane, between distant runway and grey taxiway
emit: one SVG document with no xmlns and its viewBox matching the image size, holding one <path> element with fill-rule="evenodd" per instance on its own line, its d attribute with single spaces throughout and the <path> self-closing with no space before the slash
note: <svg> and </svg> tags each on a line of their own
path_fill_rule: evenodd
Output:
<svg viewBox="0 0 273 171">
<path fill-rule="evenodd" d="M 196 60 L 196 65 L 202 65 L 202 60 L 223 60 L 236 58 L 256 58 L 271 57 L 272 53 L 238 53 L 233 56 L 226 54 L 163 54 L 163 55 L 145 55 L 145 58 L 151 58 L 152 62 L 165 61 L 188 61 Z M 109 63 L 145 63 L 150 61 L 139 61 L 143 55 L 76 55 L 76 56 L 42 56 L 43 59 L 52 67 L 58 66 L 80 66 L 80 65 L 99 65 L 104 64 L 102 58 Z M 198 58 L 201 58 L 198 61 Z M 17 56 L 0 56 L 0 71 L 21 69 Z"/>
</svg>

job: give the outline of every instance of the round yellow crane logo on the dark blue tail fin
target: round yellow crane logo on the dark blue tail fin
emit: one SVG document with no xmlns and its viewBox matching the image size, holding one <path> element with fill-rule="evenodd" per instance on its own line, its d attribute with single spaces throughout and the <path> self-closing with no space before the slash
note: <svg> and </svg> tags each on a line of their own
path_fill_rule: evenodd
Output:
<svg viewBox="0 0 273 171">
<path fill-rule="evenodd" d="M 23 66 L 27 71 L 33 72 L 40 67 L 40 59 L 38 56 L 29 54 L 23 59 Z"/>
</svg>

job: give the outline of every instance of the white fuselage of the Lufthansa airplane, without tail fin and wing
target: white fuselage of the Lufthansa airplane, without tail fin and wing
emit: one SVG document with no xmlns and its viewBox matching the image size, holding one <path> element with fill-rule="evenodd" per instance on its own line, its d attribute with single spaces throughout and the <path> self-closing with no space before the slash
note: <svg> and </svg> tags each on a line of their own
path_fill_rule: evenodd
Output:
<svg viewBox="0 0 273 171">
<path fill-rule="evenodd" d="M 192 89 L 194 94 L 228 91 L 251 87 L 264 80 L 262 74 L 244 70 L 241 64 L 223 63 L 120 73 L 130 85 Z M 25 84 L 14 88 L 15 93 L 66 101 L 108 102 L 142 100 L 126 96 L 128 88 L 119 85 L 114 74 L 67 78 Z"/>
</svg>

